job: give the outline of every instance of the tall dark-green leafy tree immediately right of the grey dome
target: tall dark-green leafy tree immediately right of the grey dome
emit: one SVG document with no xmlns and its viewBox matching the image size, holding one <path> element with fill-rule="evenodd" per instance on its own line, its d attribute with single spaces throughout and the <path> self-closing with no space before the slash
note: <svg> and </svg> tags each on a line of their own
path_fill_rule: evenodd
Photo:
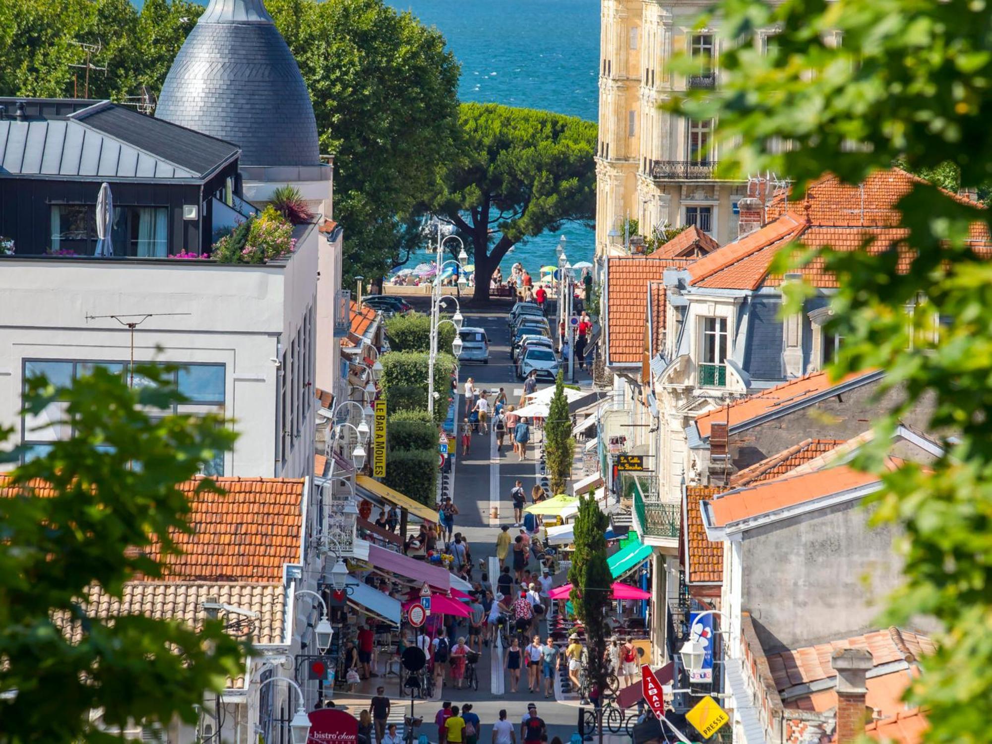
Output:
<svg viewBox="0 0 992 744">
<path fill-rule="evenodd" d="M 382 0 L 270 0 L 334 155 L 344 265 L 381 276 L 423 247 L 419 202 L 450 155 L 459 67 L 444 38 Z"/>
</svg>

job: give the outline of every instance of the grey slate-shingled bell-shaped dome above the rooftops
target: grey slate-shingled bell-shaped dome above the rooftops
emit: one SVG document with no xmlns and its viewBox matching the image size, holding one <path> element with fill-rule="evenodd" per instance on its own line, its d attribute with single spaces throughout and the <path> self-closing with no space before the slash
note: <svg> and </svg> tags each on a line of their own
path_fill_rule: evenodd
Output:
<svg viewBox="0 0 992 744">
<path fill-rule="evenodd" d="M 155 115 L 235 143 L 245 166 L 320 162 L 307 85 L 263 0 L 210 0 Z"/>
</svg>

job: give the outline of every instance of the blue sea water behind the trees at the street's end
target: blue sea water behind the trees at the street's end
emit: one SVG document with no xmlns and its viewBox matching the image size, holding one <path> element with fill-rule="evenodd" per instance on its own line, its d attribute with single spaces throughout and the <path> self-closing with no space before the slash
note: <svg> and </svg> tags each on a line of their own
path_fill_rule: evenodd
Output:
<svg viewBox="0 0 992 744">
<path fill-rule="evenodd" d="M 389 2 L 389 0 L 387 0 Z M 461 62 L 464 101 L 544 108 L 596 121 L 599 62 L 598 0 L 394 0 L 429 26 L 436 26 Z M 591 261 L 594 233 L 565 222 L 518 243 L 503 260 L 537 276 L 557 264 L 558 236 L 569 261 Z"/>
</svg>

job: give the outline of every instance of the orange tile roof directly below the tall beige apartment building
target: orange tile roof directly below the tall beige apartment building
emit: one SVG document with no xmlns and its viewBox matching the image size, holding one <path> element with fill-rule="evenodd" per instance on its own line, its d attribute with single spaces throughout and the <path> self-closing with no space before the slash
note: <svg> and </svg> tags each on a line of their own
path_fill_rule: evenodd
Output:
<svg viewBox="0 0 992 744">
<path fill-rule="evenodd" d="M 619 256 L 607 262 L 607 333 L 610 364 L 636 364 L 644 354 L 648 283 L 660 282 L 666 269 L 684 269 L 692 259 Z"/>
</svg>

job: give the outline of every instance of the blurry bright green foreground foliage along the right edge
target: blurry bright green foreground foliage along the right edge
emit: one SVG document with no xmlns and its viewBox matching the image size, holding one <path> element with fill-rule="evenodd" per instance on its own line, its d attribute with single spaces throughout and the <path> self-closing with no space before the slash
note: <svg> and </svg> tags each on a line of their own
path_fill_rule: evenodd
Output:
<svg viewBox="0 0 992 744">
<path fill-rule="evenodd" d="M 857 183 L 898 161 L 942 186 L 987 190 L 988 3 L 724 0 L 718 12 L 720 87 L 672 106 L 718 118 L 725 174 L 770 170 L 795 179 L 798 195 L 824 171 Z M 763 55 L 751 40 L 776 26 Z M 782 141 L 791 147 L 773 147 Z M 904 392 L 858 460 L 883 474 L 874 519 L 905 534 L 906 582 L 883 622 L 929 615 L 943 627 L 909 699 L 928 708 L 926 741 L 971 744 L 988 740 L 992 699 L 992 266 L 966 241 L 974 224 L 988 234 L 990 214 L 924 183 L 899 208 L 916 255 L 909 272 L 897 270 L 895 251 L 821 252 L 839 286 L 826 330 L 844 337 L 831 373 L 883 367 L 884 387 Z M 776 268 L 810 257 L 781 257 Z M 924 396 L 935 404 L 930 432 L 954 433 L 946 454 L 888 472 L 887 434 Z"/>
</svg>

